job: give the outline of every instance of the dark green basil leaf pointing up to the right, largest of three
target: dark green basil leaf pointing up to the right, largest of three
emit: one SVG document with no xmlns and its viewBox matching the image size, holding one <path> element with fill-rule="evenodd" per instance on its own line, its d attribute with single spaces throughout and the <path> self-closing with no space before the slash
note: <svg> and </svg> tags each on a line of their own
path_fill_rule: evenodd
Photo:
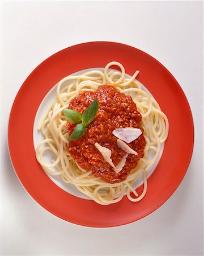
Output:
<svg viewBox="0 0 204 256">
<path fill-rule="evenodd" d="M 82 123 L 87 127 L 95 118 L 97 111 L 99 110 L 99 104 L 97 100 L 94 100 L 82 114 Z"/>
</svg>

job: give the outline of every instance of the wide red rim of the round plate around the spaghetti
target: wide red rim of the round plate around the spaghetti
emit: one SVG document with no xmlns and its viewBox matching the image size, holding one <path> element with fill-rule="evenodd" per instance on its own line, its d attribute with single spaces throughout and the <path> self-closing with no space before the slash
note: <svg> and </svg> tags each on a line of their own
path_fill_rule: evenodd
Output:
<svg viewBox="0 0 204 256">
<path fill-rule="evenodd" d="M 63 77 L 83 69 L 105 67 L 119 61 L 126 73 L 140 71 L 137 79 L 154 96 L 169 119 L 169 135 L 162 157 L 148 179 L 146 196 L 133 203 L 126 196 L 103 206 L 58 187 L 35 158 L 33 125 L 37 110 L 50 89 Z M 111 227 L 128 224 L 158 209 L 175 192 L 193 151 L 193 118 L 184 92 L 168 70 L 145 52 L 114 42 L 89 42 L 72 46 L 42 62 L 23 83 L 8 123 L 11 161 L 27 192 L 50 213 L 74 224 Z M 137 189 L 142 191 L 142 186 Z"/>
</svg>

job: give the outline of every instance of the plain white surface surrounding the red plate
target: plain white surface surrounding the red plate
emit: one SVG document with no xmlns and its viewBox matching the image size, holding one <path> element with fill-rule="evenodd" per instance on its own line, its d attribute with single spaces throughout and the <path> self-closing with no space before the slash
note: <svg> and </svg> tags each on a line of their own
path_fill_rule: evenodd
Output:
<svg viewBox="0 0 204 256">
<path fill-rule="evenodd" d="M 202 12 L 202 2 L 2 3 L 2 255 L 203 254 Z M 189 100 L 196 133 L 188 172 L 171 199 L 111 229 L 69 224 L 41 208 L 19 183 L 7 151 L 12 101 L 29 73 L 53 53 L 94 40 L 129 44 L 167 67 Z"/>
</svg>

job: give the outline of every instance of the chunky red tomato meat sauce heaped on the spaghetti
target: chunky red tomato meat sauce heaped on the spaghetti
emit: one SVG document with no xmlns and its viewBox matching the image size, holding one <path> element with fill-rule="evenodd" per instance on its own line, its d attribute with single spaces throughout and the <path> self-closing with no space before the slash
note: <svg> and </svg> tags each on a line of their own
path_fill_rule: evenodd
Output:
<svg viewBox="0 0 204 256">
<path fill-rule="evenodd" d="M 116 166 L 126 152 L 117 146 L 118 138 L 112 134 L 112 131 L 118 127 L 135 127 L 143 131 L 139 127 L 142 117 L 131 96 L 118 92 L 111 85 L 100 85 L 96 92 L 80 93 L 70 102 L 69 109 L 83 113 L 95 99 L 99 103 L 99 111 L 94 121 L 87 127 L 81 138 L 70 141 L 68 150 L 84 170 L 92 171 L 96 177 L 101 177 L 108 183 L 118 183 L 124 181 L 129 172 L 137 166 L 137 161 L 143 158 L 146 144 L 143 133 L 138 139 L 128 144 L 138 152 L 138 155 L 129 154 L 124 168 L 118 174 L 104 160 L 94 144 L 98 142 L 101 146 L 109 148 L 112 151 L 113 164 Z M 69 135 L 75 126 L 67 121 Z"/>
</svg>

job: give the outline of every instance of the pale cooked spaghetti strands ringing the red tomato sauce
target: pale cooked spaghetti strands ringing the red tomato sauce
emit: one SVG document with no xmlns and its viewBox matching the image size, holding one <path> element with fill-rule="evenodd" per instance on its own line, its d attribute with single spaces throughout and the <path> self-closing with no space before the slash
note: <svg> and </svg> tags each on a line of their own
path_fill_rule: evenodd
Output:
<svg viewBox="0 0 204 256">
<path fill-rule="evenodd" d="M 108 69 L 112 65 L 117 65 L 121 72 L 109 71 Z M 155 163 L 161 143 L 168 136 L 168 118 L 160 109 L 158 102 L 142 90 L 138 82 L 135 81 L 138 73 L 139 71 L 136 71 L 131 78 L 128 78 L 123 65 L 112 61 L 105 66 L 104 72 L 95 70 L 80 76 L 65 77 L 58 83 L 57 97 L 38 126 L 45 139 L 36 148 L 36 158 L 44 170 L 52 175 L 61 175 L 62 181 L 74 184 L 80 192 L 101 205 L 117 203 L 124 195 L 133 202 L 137 202 L 145 196 L 147 191 L 146 172 Z M 74 80 L 74 82 L 63 86 L 63 82 L 67 80 Z M 69 137 L 67 121 L 63 114 L 63 110 L 69 108 L 70 102 L 80 93 L 95 92 L 100 85 L 104 84 L 112 85 L 119 92 L 131 96 L 142 115 L 141 123 L 146 141 L 143 158 L 138 160 L 137 166 L 130 171 L 124 181 L 114 184 L 94 176 L 92 171 L 82 169 L 71 157 L 67 150 L 70 142 L 67 139 Z M 44 161 L 44 153 L 47 150 L 56 155 L 56 159 L 52 160 L 50 164 Z M 151 159 L 150 152 L 154 153 Z M 134 183 L 141 174 L 143 174 L 144 185 L 143 192 L 138 195 L 134 189 Z"/>
</svg>

